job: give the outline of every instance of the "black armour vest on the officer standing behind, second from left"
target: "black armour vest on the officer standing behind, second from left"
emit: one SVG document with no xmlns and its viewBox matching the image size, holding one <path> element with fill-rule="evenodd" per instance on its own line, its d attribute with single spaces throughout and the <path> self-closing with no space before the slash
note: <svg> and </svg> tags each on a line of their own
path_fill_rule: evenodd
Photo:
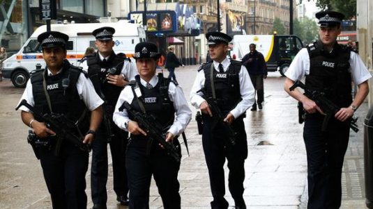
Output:
<svg viewBox="0 0 373 209">
<path fill-rule="evenodd" d="M 115 54 L 113 51 L 106 62 L 102 62 L 100 60 L 100 56 L 98 55 L 98 53 L 87 56 L 86 59 L 89 78 L 91 79 L 96 92 L 98 93 L 98 95 L 100 95 L 100 97 L 102 97 L 102 92 L 105 98 L 101 99 L 105 99 L 109 106 L 115 106 L 123 87 L 107 83 L 106 75 L 109 69 L 112 67 L 116 68 L 116 72 L 114 73 L 115 75 L 121 74 L 121 70 L 124 65 L 123 61 L 125 60 L 125 54 Z"/>
</svg>

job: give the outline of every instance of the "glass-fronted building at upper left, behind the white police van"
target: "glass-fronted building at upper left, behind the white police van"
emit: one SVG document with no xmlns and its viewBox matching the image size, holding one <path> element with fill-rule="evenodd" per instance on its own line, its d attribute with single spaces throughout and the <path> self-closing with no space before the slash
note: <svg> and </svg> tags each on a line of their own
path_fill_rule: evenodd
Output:
<svg viewBox="0 0 373 209">
<path fill-rule="evenodd" d="M 107 13 L 107 0 L 53 0 L 56 3 L 57 19 L 52 23 L 98 22 Z M 45 24 L 40 19 L 38 0 L 5 0 L 0 9 L 6 14 L 0 16 L 1 47 L 8 56 L 19 51 L 33 31 Z"/>
</svg>

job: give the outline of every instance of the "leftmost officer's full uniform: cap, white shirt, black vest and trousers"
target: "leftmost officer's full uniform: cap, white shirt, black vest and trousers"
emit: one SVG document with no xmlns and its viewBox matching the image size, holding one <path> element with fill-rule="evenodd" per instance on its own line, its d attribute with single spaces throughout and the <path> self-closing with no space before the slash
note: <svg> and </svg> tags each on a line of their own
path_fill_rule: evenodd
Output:
<svg viewBox="0 0 373 209">
<path fill-rule="evenodd" d="M 42 47 L 65 46 L 68 35 L 50 31 L 40 34 L 38 41 Z M 66 82 L 63 84 L 64 79 L 69 81 L 67 87 Z M 103 103 L 98 94 L 91 91 L 92 87 L 91 81 L 84 76 L 81 69 L 64 60 L 62 69 L 55 75 L 47 67 L 32 72 L 21 101 L 26 99 L 31 106 L 43 114 L 53 111 L 66 115 L 68 119 L 75 122 L 82 116 L 84 109 L 93 111 Z M 46 94 L 50 97 L 50 107 Z M 24 106 L 20 109 L 29 112 L 29 109 Z M 33 116 L 38 122 L 43 122 L 37 115 Z M 79 126 L 87 127 L 89 121 L 83 120 Z M 86 133 L 88 129 L 81 128 L 81 131 Z M 40 147 L 38 153 L 53 208 L 86 208 L 87 199 L 84 190 L 89 153 L 66 140 L 63 141 L 58 156 L 54 155 L 54 146 L 51 149 Z"/>
</svg>

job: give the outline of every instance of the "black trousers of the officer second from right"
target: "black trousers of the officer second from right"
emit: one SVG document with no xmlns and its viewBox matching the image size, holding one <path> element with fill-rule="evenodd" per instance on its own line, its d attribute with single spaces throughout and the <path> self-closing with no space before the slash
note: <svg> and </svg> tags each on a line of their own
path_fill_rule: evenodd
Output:
<svg viewBox="0 0 373 209">
<path fill-rule="evenodd" d="M 243 181 L 245 180 L 245 159 L 248 158 L 248 141 L 246 139 L 245 125 L 243 119 L 236 119 L 232 128 L 236 131 L 236 145 L 224 146 L 224 137 L 228 137 L 220 124 L 213 122 L 209 116 L 203 115 L 204 131 L 202 144 L 210 176 L 211 192 L 213 201 L 211 208 L 228 208 L 228 202 L 224 199 L 224 162 L 227 158 L 229 177 L 228 187 L 236 206 L 245 205 L 243 200 Z"/>
</svg>

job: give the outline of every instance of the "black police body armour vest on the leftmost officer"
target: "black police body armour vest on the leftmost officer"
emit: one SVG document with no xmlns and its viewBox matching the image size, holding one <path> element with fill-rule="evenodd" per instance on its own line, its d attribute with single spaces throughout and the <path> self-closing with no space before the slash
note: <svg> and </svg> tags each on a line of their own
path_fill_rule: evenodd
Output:
<svg viewBox="0 0 373 209">
<path fill-rule="evenodd" d="M 43 87 L 43 81 L 45 78 L 47 93 L 50 96 L 50 103 L 52 106 L 52 112 L 66 115 L 68 119 L 73 122 L 82 116 L 86 106 L 84 101 L 80 99 L 77 92 L 77 80 L 79 75 L 82 73 L 82 69 L 70 65 L 68 60 L 63 63 L 62 72 L 53 76 L 47 76 L 47 69 L 40 69 L 31 74 L 31 84 L 33 91 L 33 99 L 35 101 L 36 110 L 43 114 L 50 113 L 50 108 L 47 103 L 47 97 L 45 96 L 45 90 Z M 68 79 L 68 87 L 63 87 L 62 80 Z M 39 122 L 43 122 L 38 115 L 34 115 Z M 88 117 L 82 122 L 81 131 L 88 131 L 89 121 Z"/>
</svg>

